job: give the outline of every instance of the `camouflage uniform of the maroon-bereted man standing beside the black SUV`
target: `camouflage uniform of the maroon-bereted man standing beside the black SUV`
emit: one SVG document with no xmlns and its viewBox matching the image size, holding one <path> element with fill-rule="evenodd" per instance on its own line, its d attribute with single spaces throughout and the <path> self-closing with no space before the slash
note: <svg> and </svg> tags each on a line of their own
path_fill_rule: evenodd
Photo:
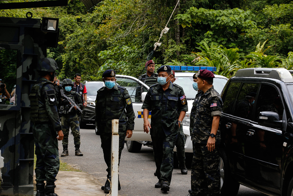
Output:
<svg viewBox="0 0 293 196">
<path fill-rule="evenodd" d="M 216 104 L 217 105 L 216 105 Z M 213 105 L 212 105 L 213 104 Z M 216 105 L 216 106 L 214 106 Z M 212 86 L 205 93 L 195 96 L 191 109 L 190 130 L 193 141 L 193 160 L 191 166 L 191 195 L 220 195 L 219 153 L 220 130 L 215 136 L 216 148 L 207 150 L 207 140 L 212 129 L 213 116 L 221 116 L 222 99 Z"/>
</svg>

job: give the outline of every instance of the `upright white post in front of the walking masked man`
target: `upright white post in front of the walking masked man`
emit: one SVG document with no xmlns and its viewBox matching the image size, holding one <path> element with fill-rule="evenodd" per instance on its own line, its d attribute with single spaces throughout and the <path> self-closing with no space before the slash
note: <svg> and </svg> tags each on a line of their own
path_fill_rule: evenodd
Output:
<svg viewBox="0 0 293 196">
<path fill-rule="evenodd" d="M 118 196 L 119 120 L 112 120 L 111 196 Z"/>
</svg>

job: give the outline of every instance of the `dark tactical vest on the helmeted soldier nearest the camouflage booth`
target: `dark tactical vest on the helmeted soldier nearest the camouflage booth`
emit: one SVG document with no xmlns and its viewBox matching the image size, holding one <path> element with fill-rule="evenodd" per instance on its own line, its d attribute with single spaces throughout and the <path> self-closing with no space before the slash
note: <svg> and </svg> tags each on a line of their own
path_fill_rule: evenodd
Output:
<svg viewBox="0 0 293 196">
<path fill-rule="evenodd" d="M 52 84 L 52 82 L 42 82 L 32 87 L 30 91 L 30 120 L 36 123 L 49 122 L 49 115 L 46 111 L 45 101 L 41 96 L 42 88 L 45 84 Z M 42 97 L 42 105 L 39 105 L 38 96 Z"/>
</svg>

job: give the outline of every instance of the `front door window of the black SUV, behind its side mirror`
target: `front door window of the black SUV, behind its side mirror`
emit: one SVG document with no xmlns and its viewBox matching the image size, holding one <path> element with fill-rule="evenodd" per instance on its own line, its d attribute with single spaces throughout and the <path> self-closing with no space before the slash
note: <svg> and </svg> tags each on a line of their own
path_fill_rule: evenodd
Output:
<svg viewBox="0 0 293 196">
<path fill-rule="evenodd" d="M 259 113 L 264 111 L 276 112 L 282 119 L 284 110 L 282 100 L 277 89 L 272 85 L 261 84 L 255 108 L 255 122 L 258 121 Z"/>
</svg>

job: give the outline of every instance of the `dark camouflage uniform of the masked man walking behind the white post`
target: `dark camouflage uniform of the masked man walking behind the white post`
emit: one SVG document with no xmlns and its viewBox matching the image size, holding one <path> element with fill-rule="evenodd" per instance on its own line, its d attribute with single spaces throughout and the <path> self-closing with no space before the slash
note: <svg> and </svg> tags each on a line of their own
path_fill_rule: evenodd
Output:
<svg viewBox="0 0 293 196">
<path fill-rule="evenodd" d="M 126 106 L 126 108 L 125 108 Z M 125 112 L 126 109 L 126 112 Z M 121 116 L 122 115 L 122 116 Z M 121 118 L 120 118 L 121 116 Z M 102 87 L 96 98 L 96 125 L 100 132 L 108 178 L 111 172 L 112 120 L 119 120 L 119 162 L 127 129 L 134 129 L 134 111 L 131 98 L 126 88 L 114 86 L 112 89 Z M 128 119 L 128 120 L 127 120 Z"/>
</svg>

